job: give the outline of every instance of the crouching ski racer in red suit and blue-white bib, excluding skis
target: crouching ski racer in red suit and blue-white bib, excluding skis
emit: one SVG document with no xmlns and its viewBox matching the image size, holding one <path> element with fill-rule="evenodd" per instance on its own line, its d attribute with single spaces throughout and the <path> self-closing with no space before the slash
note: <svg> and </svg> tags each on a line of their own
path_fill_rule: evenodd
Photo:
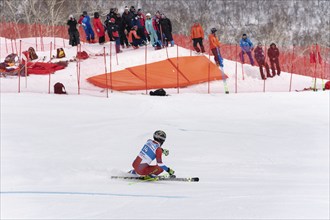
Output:
<svg viewBox="0 0 330 220">
<path fill-rule="evenodd" d="M 155 131 L 153 140 L 149 139 L 142 147 L 139 155 L 132 164 L 134 170 L 131 170 L 129 173 L 146 177 L 156 177 L 163 171 L 166 171 L 170 174 L 170 176 L 174 177 L 174 170 L 167 167 L 162 161 L 162 154 L 165 156 L 169 154 L 168 150 L 161 147 L 165 142 L 165 139 L 166 134 L 164 131 Z M 155 159 L 157 165 L 150 165 Z"/>
</svg>

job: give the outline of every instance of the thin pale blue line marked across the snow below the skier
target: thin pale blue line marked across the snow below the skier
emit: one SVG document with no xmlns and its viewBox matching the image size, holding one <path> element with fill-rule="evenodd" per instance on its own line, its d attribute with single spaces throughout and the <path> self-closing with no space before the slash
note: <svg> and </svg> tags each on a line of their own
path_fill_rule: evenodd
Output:
<svg viewBox="0 0 330 220">
<path fill-rule="evenodd" d="M 120 196 L 120 197 L 142 197 L 142 198 L 164 198 L 164 199 L 187 198 L 186 196 L 138 195 L 138 194 L 98 193 L 98 192 L 4 191 L 4 192 L 0 192 L 0 194 Z"/>
</svg>

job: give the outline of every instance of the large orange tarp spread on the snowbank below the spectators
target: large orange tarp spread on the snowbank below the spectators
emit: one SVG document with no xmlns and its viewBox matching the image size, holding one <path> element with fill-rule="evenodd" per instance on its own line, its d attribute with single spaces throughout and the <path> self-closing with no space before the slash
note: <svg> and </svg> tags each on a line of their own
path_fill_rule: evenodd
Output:
<svg viewBox="0 0 330 220">
<path fill-rule="evenodd" d="M 143 90 L 146 86 L 147 89 L 186 87 L 221 79 L 219 67 L 205 56 L 188 56 L 126 68 L 111 76 L 110 73 L 97 75 L 87 81 L 101 88 L 127 91 Z"/>
</svg>

